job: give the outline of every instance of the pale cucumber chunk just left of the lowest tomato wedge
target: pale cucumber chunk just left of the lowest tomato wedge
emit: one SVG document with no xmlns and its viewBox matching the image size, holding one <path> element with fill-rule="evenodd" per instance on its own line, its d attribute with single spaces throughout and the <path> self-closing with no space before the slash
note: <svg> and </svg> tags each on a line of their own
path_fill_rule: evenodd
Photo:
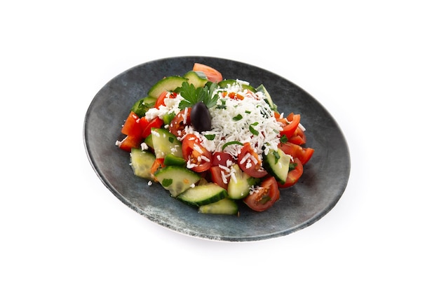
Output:
<svg viewBox="0 0 439 292">
<path fill-rule="evenodd" d="M 250 188 L 259 183 L 260 180 L 243 172 L 238 165 L 233 165 L 232 168 L 235 176 L 231 177 L 229 181 L 227 193 L 231 199 L 241 200 L 250 194 Z"/>
</svg>

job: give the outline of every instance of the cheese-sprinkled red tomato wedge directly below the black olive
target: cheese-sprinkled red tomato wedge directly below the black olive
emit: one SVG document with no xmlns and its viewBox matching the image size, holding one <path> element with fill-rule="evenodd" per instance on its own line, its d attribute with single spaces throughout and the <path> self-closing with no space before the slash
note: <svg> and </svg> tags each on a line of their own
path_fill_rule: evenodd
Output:
<svg viewBox="0 0 439 292">
<path fill-rule="evenodd" d="M 194 172 L 204 172 L 212 165 L 212 153 L 201 145 L 201 141 L 194 134 L 184 137 L 182 153 L 187 161 L 187 168 Z"/>
</svg>

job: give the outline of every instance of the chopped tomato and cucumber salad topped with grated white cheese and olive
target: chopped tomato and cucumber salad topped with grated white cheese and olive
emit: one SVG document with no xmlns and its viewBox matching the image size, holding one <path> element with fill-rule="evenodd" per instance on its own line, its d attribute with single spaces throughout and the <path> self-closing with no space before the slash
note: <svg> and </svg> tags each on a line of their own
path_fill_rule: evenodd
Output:
<svg viewBox="0 0 439 292">
<path fill-rule="evenodd" d="M 300 115 L 279 113 L 264 85 L 199 63 L 153 85 L 121 132 L 116 146 L 130 152 L 136 176 L 208 214 L 239 214 L 238 200 L 269 209 L 314 152 Z"/>
</svg>

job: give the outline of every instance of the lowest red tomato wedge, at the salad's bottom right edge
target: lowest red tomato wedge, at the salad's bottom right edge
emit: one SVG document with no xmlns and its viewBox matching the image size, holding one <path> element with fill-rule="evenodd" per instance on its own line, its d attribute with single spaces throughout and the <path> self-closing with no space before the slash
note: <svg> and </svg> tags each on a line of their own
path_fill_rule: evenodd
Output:
<svg viewBox="0 0 439 292">
<path fill-rule="evenodd" d="M 273 176 L 262 181 L 260 188 L 251 192 L 245 197 L 243 201 L 250 209 L 255 211 L 265 211 L 279 200 L 281 192 L 278 188 L 278 183 Z"/>
</svg>

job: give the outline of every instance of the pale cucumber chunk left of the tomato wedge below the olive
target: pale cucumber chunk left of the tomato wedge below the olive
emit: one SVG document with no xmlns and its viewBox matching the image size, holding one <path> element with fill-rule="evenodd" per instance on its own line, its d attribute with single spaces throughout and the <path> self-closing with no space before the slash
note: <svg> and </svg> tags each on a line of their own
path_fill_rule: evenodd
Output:
<svg viewBox="0 0 439 292">
<path fill-rule="evenodd" d="M 177 140 L 177 137 L 166 129 L 154 127 L 151 129 L 152 148 L 156 153 L 156 158 L 165 158 L 168 154 L 173 154 L 177 157 L 183 157 L 182 142 Z"/>
</svg>

